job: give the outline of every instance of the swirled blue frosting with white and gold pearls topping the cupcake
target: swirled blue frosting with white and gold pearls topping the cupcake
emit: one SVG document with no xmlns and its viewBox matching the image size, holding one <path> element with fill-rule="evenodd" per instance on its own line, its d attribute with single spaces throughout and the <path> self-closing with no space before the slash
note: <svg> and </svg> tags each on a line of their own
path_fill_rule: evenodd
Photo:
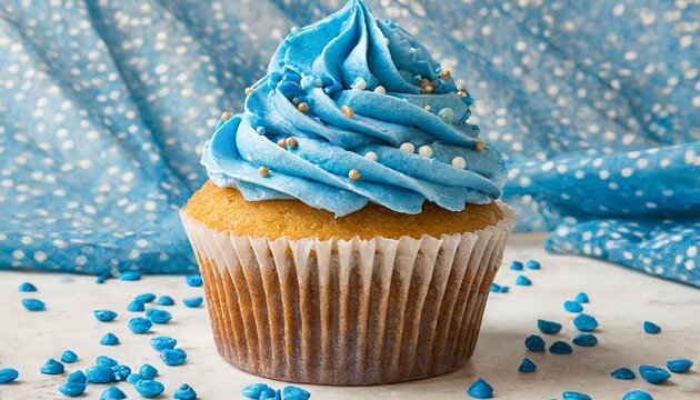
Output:
<svg viewBox="0 0 700 400">
<path fill-rule="evenodd" d="M 506 167 L 479 142 L 460 89 L 412 36 L 352 0 L 292 30 L 246 111 L 217 123 L 202 164 L 249 201 L 298 199 L 337 217 L 369 201 L 403 213 L 426 200 L 452 211 L 488 203 Z"/>
</svg>

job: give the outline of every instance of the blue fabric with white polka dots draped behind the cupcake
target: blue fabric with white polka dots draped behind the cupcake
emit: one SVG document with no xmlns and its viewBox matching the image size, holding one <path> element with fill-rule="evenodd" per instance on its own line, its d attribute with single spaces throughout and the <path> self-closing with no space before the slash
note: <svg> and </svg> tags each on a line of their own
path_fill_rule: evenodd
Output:
<svg viewBox="0 0 700 400">
<path fill-rule="evenodd" d="M 700 286 L 691 1 L 368 0 L 477 99 L 521 231 Z M 0 268 L 196 269 L 202 146 L 293 26 L 341 1 L 2 1 Z"/>
</svg>

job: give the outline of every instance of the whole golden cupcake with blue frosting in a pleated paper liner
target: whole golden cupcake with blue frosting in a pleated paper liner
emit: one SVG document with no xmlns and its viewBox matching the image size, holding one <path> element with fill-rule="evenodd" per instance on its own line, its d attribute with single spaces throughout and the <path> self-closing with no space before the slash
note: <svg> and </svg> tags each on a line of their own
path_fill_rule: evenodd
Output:
<svg viewBox="0 0 700 400">
<path fill-rule="evenodd" d="M 318 384 L 464 364 L 514 223 L 469 93 L 353 0 L 292 30 L 247 94 L 181 210 L 221 356 Z"/>
</svg>

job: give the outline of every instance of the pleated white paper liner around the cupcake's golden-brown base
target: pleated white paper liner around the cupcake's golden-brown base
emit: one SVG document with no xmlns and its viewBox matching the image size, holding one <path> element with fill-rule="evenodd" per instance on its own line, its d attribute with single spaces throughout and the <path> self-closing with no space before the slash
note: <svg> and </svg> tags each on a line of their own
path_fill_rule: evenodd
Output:
<svg viewBox="0 0 700 400">
<path fill-rule="evenodd" d="M 420 240 L 269 240 L 181 212 L 221 356 L 251 373 L 317 384 L 447 373 L 471 357 L 514 213 Z"/>
</svg>

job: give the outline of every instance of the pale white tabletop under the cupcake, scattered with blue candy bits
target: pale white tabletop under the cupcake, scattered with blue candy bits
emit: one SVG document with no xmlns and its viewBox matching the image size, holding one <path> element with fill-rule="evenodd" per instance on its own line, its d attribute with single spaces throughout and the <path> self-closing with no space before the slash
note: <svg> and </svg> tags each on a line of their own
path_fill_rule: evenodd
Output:
<svg viewBox="0 0 700 400">
<path fill-rule="evenodd" d="M 511 292 L 490 297 L 477 351 L 461 370 L 443 377 L 381 387 L 336 388 L 301 386 L 311 391 L 311 399 L 469 399 L 469 384 L 482 377 L 496 389 L 497 399 L 561 398 L 563 390 L 589 393 L 593 399 L 621 399 L 631 389 L 643 389 L 654 399 L 700 399 L 700 369 L 690 373 L 672 374 L 663 386 L 652 386 L 637 378 L 632 381 L 613 380 L 609 372 L 618 367 L 637 370 L 642 363 L 664 367 L 672 358 L 689 358 L 700 363 L 700 290 L 651 278 L 629 269 L 596 260 L 547 254 L 543 236 L 516 236 L 506 251 L 503 268 L 497 282 L 509 284 Z M 539 271 L 526 270 L 532 287 L 513 286 L 517 272 L 508 266 L 513 259 L 536 259 Z M 23 281 L 33 282 L 39 291 L 20 293 Z M 600 342 L 594 348 L 573 346 L 570 356 L 529 353 L 524 338 L 538 333 L 538 318 L 560 321 L 564 328 L 553 340 L 570 341 L 577 333 L 569 321 L 571 314 L 562 303 L 579 291 L 588 292 L 591 302 L 586 312 L 598 318 L 596 332 Z M 178 302 L 163 307 L 172 314 L 167 326 L 154 326 L 152 333 L 137 336 L 127 329 L 132 313 L 126 307 L 139 293 L 169 294 Z M 0 399 L 61 399 L 57 390 L 66 374 L 44 376 L 39 368 L 50 357 L 60 358 L 66 349 L 80 357 L 67 371 L 86 369 L 94 358 L 106 354 L 120 363 L 138 369 L 143 362 L 156 366 L 166 386 L 160 398 L 171 398 L 183 382 L 191 384 L 200 399 L 243 399 L 241 388 L 264 381 L 281 388 L 283 383 L 244 373 L 223 361 L 213 344 L 204 307 L 188 309 L 184 297 L 203 296 L 201 288 L 190 288 L 183 277 L 146 277 L 136 282 L 108 280 L 96 284 L 93 277 L 67 273 L 0 272 L 0 368 L 13 367 L 20 378 L 12 384 L 0 384 Z M 22 298 L 36 297 L 47 303 L 43 312 L 28 312 Z M 119 312 L 113 322 L 98 322 L 94 309 Z M 642 321 L 662 327 L 657 336 L 642 331 Z M 121 344 L 103 347 L 99 339 L 114 332 Z M 171 336 L 188 352 L 188 361 L 180 367 L 167 367 L 149 346 L 149 339 Z M 538 366 L 534 373 L 517 371 L 524 356 Z M 107 388 L 89 384 L 83 398 L 98 399 Z M 133 387 L 120 382 L 129 398 L 138 398 Z M 166 394 L 168 394 L 166 397 Z"/>
</svg>

